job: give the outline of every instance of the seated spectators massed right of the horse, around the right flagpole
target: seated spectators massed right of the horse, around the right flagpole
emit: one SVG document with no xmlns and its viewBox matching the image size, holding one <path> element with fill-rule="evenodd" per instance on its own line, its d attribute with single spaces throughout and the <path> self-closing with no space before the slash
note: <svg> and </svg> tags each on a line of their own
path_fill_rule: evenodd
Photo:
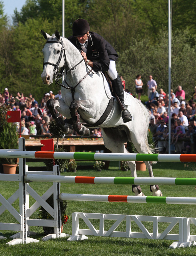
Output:
<svg viewBox="0 0 196 256">
<path fill-rule="evenodd" d="M 162 88 L 157 89 L 156 81 L 149 76 L 148 98 L 145 102 L 150 113 L 150 131 L 159 153 L 168 153 L 169 119 L 171 119 L 171 153 L 195 153 L 196 138 L 196 87 L 192 98 L 185 100 L 182 86 L 174 93 L 166 94 Z M 156 86 L 150 87 L 150 84 Z M 171 109 L 169 116 L 169 101 Z M 185 139 L 183 139 L 185 138 Z"/>
</svg>

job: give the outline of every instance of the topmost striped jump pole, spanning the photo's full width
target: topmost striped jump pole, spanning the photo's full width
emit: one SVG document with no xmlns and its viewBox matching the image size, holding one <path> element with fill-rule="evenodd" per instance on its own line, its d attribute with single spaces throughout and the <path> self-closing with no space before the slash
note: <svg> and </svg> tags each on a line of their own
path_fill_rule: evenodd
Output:
<svg viewBox="0 0 196 256">
<path fill-rule="evenodd" d="M 196 154 L 123 154 L 0 150 L 0 157 L 101 161 L 196 162 Z"/>
</svg>

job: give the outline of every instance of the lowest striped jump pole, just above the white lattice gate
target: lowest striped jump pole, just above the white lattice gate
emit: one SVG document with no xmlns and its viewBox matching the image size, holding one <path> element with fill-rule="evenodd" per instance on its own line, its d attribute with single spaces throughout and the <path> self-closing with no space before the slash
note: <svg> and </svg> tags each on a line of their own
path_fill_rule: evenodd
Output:
<svg viewBox="0 0 196 256">
<path fill-rule="evenodd" d="M 154 203 L 154 204 L 196 204 L 195 197 L 170 196 L 116 196 L 88 194 L 59 194 L 59 199 L 90 202 Z"/>
</svg>

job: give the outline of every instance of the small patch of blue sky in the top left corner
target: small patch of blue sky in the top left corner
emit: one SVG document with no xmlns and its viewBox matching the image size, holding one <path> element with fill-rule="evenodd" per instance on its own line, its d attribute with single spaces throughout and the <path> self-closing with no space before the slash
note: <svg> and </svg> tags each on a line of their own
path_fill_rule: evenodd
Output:
<svg viewBox="0 0 196 256">
<path fill-rule="evenodd" d="M 20 12 L 26 0 L 2 0 L 2 2 L 4 4 L 4 14 L 7 14 L 10 17 L 14 14 L 15 8 Z"/>
</svg>

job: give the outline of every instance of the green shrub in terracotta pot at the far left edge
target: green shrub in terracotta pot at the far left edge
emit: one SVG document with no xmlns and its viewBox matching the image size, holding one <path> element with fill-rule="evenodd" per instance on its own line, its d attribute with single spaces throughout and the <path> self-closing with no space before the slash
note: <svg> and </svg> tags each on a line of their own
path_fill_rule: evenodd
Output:
<svg viewBox="0 0 196 256">
<path fill-rule="evenodd" d="M 9 118 L 7 111 L 9 111 L 9 107 L 6 104 L 0 107 L 0 148 L 18 149 L 17 126 L 7 122 Z M 0 158 L 4 173 L 16 173 L 16 162 L 17 158 Z"/>
</svg>

